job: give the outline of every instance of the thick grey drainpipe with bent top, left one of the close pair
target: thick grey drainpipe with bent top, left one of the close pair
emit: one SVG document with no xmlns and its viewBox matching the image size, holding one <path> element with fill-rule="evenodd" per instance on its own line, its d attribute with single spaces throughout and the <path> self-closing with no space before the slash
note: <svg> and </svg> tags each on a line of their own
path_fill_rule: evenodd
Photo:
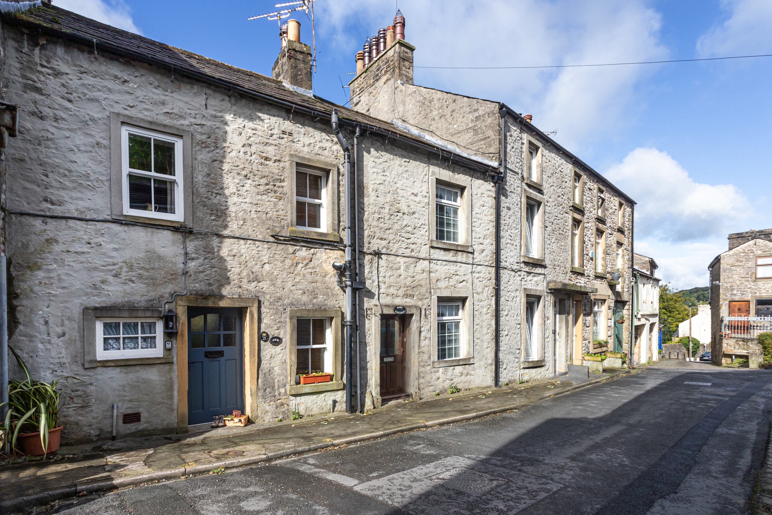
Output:
<svg viewBox="0 0 772 515">
<path fill-rule="evenodd" d="M 344 155 L 344 244 L 346 247 L 346 259 L 344 270 L 346 273 L 346 412 L 351 412 L 351 346 L 352 334 L 351 326 L 354 325 L 354 283 L 351 277 L 351 151 L 343 137 L 340 134 L 338 126 L 337 109 L 333 109 L 331 117 L 333 131 L 337 137 L 340 148 Z"/>
</svg>

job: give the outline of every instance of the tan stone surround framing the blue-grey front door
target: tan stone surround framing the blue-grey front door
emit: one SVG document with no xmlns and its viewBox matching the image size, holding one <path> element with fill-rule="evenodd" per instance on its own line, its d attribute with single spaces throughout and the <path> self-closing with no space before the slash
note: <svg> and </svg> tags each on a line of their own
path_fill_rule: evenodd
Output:
<svg viewBox="0 0 772 515">
<path fill-rule="evenodd" d="M 244 320 L 244 415 L 257 418 L 257 376 L 259 357 L 259 299 L 235 296 L 178 296 L 177 312 L 177 432 L 188 432 L 188 307 L 240 307 Z"/>
</svg>

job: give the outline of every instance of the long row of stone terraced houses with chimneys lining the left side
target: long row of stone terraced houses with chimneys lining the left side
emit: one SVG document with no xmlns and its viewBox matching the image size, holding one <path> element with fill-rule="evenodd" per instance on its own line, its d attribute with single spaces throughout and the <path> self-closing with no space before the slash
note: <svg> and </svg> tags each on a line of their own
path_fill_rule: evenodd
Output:
<svg viewBox="0 0 772 515">
<path fill-rule="evenodd" d="M 66 441 L 364 411 L 553 377 L 596 341 L 630 351 L 628 196 L 530 117 L 413 85 L 405 39 L 363 63 L 353 109 L 314 96 L 299 25 L 271 78 L 46 2 L 2 15 L 8 340 L 36 377 L 83 379 Z"/>
</svg>

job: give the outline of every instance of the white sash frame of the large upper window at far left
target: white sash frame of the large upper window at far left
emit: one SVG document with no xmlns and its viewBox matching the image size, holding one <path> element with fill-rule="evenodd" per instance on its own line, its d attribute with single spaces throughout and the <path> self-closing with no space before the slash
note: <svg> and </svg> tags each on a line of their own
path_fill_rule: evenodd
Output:
<svg viewBox="0 0 772 515">
<path fill-rule="evenodd" d="M 152 137 L 157 140 L 174 143 L 174 175 L 157 174 L 152 171 L 134 170 L 134 168 L 129 168 L 129 134 L 137 134 L 139 136 Z M 121 184 L 123 185 L 122 190 L 124 196 L 124 215 L 183 222 L 185 220 L 185 205 L 183 202 L 183 198 L 185 198 L 185 191 L 183 176 L 186 171 L 183 169 L 182 161 L 182 138 L 178 136 L 172 136 L 171 134 L 155 132 L 154 130 L 141 129 L 139 127 L 134 127 L 133 125 L 122 124 L 120 126 L 120 149 L 120 159 L 122 165 Z M 153 154 L 154 152 L 151 151 L 151 162 L 154 159 Z M 161 181 L 174 182 L 174 210 L 176 212 L 171 214 L 146 211 L 141 209 L 132 209 L 130 207 L 129 201 L 129 174 L 139 175 L 141 177 L 147 177 L 151 179 L 159 179 Z"/>
</svg>

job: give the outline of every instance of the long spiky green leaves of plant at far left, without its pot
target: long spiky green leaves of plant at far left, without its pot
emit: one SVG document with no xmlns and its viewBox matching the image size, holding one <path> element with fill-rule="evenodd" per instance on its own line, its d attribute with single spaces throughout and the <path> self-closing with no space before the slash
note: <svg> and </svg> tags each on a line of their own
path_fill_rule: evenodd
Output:
<svg viewBox="0 0 772 515">
<path fill-rule="evenodd" d="M 16 441 L 19 434 L 39 432 L 40 443 L 43 446 L 43 452 L 48 450 L 49 429 L 57 427 L 59 422 L 59 395 L 62 391 L 56 389 L 56 385 L 62 379 L 76 379 L 72 376 L 59 378 L 52 383 L 44 381 L 34 381 L 29 375 L 29 368 L 22 360 L 22 357 L 16 353 L 12 347 L 11 350 L 16 363 L 22 369 L 25 375 L 24 381 L 12 379 L 8 381 L 8 402 L 2 405 L 8 405 L 8 412 L 5 413 L 5 421 L 2 429 L 5 429 L 5 435 L 8 443 L 16 449 Z M 43 455 L 46 459 L 46 454 Z"/>
</svg>

